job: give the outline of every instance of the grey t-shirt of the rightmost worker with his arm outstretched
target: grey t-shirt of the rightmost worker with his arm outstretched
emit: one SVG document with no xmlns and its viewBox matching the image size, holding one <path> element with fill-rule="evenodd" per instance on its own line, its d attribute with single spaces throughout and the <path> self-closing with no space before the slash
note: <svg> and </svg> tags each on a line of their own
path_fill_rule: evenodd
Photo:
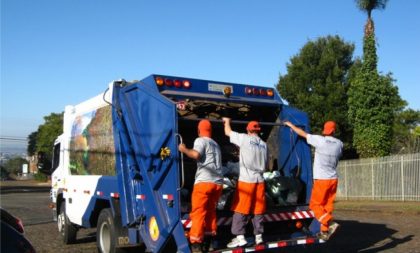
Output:
<svg viewBox="0 0 420 253">
<path fill-rule="evenodd" d="M 307 142 L 315 147 L 314 179 L 337 178 L 337 164 L 343 150 L 343 142 L 332 136 L 308 134 Z"/>
</svg>

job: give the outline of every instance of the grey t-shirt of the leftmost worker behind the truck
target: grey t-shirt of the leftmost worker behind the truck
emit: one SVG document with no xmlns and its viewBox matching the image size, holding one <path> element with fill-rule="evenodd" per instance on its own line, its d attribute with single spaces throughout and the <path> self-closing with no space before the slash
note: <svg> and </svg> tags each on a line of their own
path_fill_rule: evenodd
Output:
<svg viewBox="0 0 420 253">
<path fill-rule="evenodd" d="M 211 138 L 199 137 L 195 139 L 193 149 L 200 154 L 195 184 L 198 182 L 222 184 L 222 155 L 219 145 Z"/>
</svg>

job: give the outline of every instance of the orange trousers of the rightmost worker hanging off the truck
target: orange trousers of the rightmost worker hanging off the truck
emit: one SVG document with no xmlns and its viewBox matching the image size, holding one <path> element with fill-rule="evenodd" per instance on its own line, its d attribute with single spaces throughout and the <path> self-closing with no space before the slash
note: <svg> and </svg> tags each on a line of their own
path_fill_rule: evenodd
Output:
<svg viewBox="0 0 420 253">
<path fill-rule="evenodd" d="M 334 200 L 337 192 L 337 179 L 315 179 L 312 186 L 309 208 L 315 218 L 321 223 L 321 231 L 328 231 L 328 224 L 332 220 Z"/>
</svg>

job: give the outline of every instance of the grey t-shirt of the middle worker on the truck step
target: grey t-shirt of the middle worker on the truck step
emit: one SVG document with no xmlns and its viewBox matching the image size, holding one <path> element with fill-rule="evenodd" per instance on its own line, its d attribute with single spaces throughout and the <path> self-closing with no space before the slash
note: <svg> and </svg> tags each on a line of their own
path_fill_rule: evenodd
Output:
<svg viewBox="0 0 420 253">
<path fill-rule="evenodd" d="M 267 166 L 267 144 L 255 135 L 230 132 L 230 142 L 239 146 L 239 181 L 264 182 Z"/>
</svg>

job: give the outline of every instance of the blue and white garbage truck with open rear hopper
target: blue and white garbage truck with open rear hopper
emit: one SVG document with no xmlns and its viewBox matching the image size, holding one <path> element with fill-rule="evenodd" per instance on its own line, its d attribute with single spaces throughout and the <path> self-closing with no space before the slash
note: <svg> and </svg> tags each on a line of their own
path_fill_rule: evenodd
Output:
<svg viewBox="0 0 420 253">
<path fill-rule="evenodd" d="M 223 132 L 260 123 L 269 165 L 264 173 L 267 211 L 264 242 L 227 249 L 238 178 L 238 148 Z M 96 228 L 99 252 L 190 252 L 189 212 L 196 162 L 178 145 L 192 147 L 197 124 L 208 119 L 223 164 L 223 194 L 216 211 L 213 252 L 253 252 L 322 243 L 308 208 L 311 150 L 284 127 L 285 120 L 309 131 L 304 112 L 283 103 L 274 88 L 168 75 L 111 82 L 104 92 L 65 107 L 63 133 L 51 163 L 51 204 L 65 244 L 81 229 Z"/>
</svg>

